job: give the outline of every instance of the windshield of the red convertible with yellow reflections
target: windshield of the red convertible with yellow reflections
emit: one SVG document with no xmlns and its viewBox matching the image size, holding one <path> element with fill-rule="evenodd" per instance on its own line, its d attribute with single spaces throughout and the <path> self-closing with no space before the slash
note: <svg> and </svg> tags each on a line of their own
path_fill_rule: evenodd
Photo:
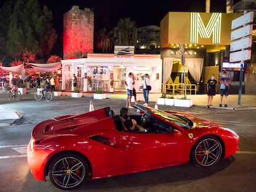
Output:
<svg viewBox="0 0 256 192">
<path fill-rule="evenodd" d="M 193 125 L 193 123 L 185 117 L 181 117 L 179 115 L 168 114 L 167 112 L 160 111 L 158 109 L 152 109 L 152 111 L 156 115 L 159 115 L 160 117 L 163 117 L 164 119 L 167 119 L 170 122 L 173 122 L 174 124 L 178 125 L 179 127 L 184 128 L 184 129 L 190 128 L 190 124 Z"/>
</svg>

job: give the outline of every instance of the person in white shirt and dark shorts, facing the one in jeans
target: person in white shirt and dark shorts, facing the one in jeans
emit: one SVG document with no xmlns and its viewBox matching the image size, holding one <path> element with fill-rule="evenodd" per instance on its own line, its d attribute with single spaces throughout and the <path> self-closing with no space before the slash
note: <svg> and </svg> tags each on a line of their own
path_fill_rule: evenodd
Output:
<svg viewBox="0 0 256 192">
<path fill-rule="evenodd" d="M 134 89 L 134 73 L 130 72 L 128 77 L 126 78 L 126 86 L 127 86 L 127 99 L 126 99 L 126 107 L 134 108 L 132 107 L 132 95 L 134 95 L 135 103 L 137 102 L 136 99 L 136 91 Z"/>
</svg>

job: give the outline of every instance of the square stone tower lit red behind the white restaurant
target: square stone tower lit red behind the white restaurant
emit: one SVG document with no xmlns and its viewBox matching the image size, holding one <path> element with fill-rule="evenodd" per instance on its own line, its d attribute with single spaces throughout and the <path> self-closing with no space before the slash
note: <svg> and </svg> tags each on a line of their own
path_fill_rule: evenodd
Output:
<svg viewBox="0 0 256 192">
<path fill-rule="evenodd" d="M 88 8 L 72 8 L 64 14 L 63 59 L 93 52 L 94 12 Z"/>
</svg>

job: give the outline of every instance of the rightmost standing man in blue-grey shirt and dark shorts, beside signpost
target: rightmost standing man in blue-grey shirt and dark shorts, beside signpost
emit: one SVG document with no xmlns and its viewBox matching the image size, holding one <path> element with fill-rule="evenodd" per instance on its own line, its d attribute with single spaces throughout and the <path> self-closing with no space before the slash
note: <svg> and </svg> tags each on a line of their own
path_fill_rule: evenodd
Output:
<svg viewBox="0 0 256 192">
<path fill-rule="evenodd" d="M 222 107 L 223 96 L 224 99 L 224 107 L 228 107 L 228 91 L 229 84 L 231 83 L 230 78 L 227 77 L 227 72 L 223 72 L 222 78 L 220 79 L 220 107 Z"/>
</svg>

